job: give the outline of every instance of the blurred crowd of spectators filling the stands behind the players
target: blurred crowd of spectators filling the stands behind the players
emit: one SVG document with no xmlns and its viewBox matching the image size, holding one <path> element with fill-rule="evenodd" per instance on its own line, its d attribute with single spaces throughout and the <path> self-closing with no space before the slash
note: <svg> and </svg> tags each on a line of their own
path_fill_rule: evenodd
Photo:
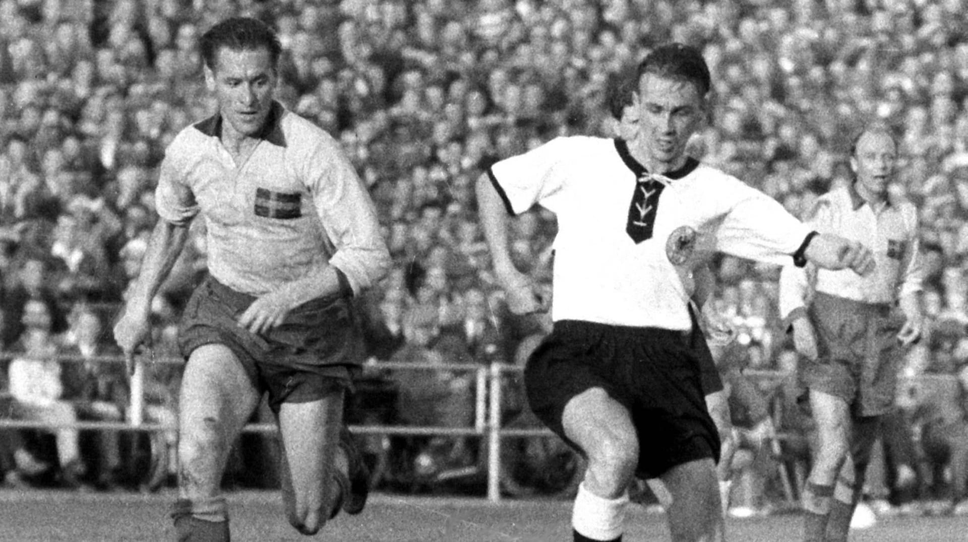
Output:
<svg viewBox="0 0 968 542">
<path fill-rule="evenodd" d="M 369 187 L 396 266 L 358 301 L 373 358 L 400 362 L 522 362 L 547 318 L 501 308 L 473 182 L 493 161 L 552 137 L 613 135 L 610 89 L 651 45 L 673 40 L 701 46 L 713 74 L 714 122 L 690 152 L 797 215 L 849 182 L 848 141 L 863 122 L 897 128 L 902 165 L 891 196 L 921 210 L 924 302 L 933 322 L 903 371 L 947 378 L 902 386 L 894 430 L 875 464 L 881 475 L 871 476 L 868 494 L 890 499 L 892 509 L 943 491 L 963 498 L 965 4 L 0 0 L 0 346 L 8 352 L 0 415 L 125 419 L 123 366 L 92 356 L 114 353 L 109 322 L 155 220 L 152 189 L 166 144 L 213 112 L 197 38 L 215 21 L 255 15 L 278 30 L 286 52 L 277 96 L 336 137 Z M 514 227 L 518 263 L 548 282 L 553 219 L 539 211 Z M 204 225 L 193 234 L 155 304 L 157 356 L 176 355 L 178 312 L 204 273 Z M 797 360 L 776 317 L 777 269 L 724 256 L 716 270 L 715 303 L 738 330 L 732 345 L 715 347 L 724 374 L 789 374 Z M 70 360 L 51 362 L 52 355 Z M 166 426 L 177 408 L 177 370 L 149 365 L 146 416 Z M 472 375 L 405 373 L 379 374 L 396 384 L 391 421 L 470 423 Z M 735 394 L 735 421 L 748 430 L 748 477 L 740 486 L 775 484 L 777 462 L 797 471 L 808 461 L 809 419 L 795 394 L 784 393 L 794 383 L 754 383 L 755 393 Z M 514 386 L 512 379 L 509 409 L 527 417 Z M 789 436 L 779 450 L 759 430 L 770 405 L 778 431 Z M 55 471 L 56 483 L 114 487 L 124 469 L 120 450 L 133 446 L 117 433 L 88 433 L 61 427 L 51 439 L 3 430 L 4 483 L 27 485 Z M 170 452 L 175 438 L 168 432 L 150 447 Z M 448 442 L 444 461 L 473 461 L 472 444 Z M 162 455 L 170 458 L 165 473 L 174 458 Z M 505 490 L 513 486 L 508 480 Z M 769 504 L 754 495 L 739 500 Z"/>
</svg>

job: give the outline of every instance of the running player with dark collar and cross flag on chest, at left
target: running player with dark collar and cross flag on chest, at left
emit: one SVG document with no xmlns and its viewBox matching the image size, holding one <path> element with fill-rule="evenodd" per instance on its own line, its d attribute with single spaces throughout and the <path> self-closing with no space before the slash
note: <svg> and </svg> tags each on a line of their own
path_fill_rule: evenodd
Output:
<svg viewBox="0 0 968 542">
<path fill-rule="evenodd" d="M 282 437 L 288 521 L 313 534 L 366 501 L 366 467 L 343 426 L 363 358 L 349 297 L 378 281 L 389 254 L 336 141 L 273 100 L 282 47 L 272 30 L 229 18 L 200 49 L 218 111 L 166 149 L 161 220 L 114 336 L 129 359 L 146 340 L 151 300 L 200 214 L 210 276 L 179 328 L 177 538 L 228 540 L 222 474 L 263 393 Z"/>
</svg>

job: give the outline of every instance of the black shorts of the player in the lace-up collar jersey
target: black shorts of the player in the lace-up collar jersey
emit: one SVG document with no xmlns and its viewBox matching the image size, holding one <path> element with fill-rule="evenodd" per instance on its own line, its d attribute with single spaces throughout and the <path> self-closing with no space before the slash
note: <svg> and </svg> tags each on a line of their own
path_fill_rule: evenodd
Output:
<svg viewBox="0 0 968 542">
<path fill-rule="evenodd" d="M 719 457 L 688 332 L 561 320 L 531 354 L 525 386 L 537 417 L 579 452 L 564 435 L 564 407 L 590 388 L 604 389 L 631 414 L 641 478 Z"/>
</svg>

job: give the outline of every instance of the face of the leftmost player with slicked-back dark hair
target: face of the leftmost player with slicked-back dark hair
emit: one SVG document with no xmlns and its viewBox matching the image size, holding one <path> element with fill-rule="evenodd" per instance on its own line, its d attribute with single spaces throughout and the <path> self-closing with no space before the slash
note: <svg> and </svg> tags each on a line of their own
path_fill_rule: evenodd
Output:
<svg viewBox="0 0 968 542">
<path fill-rule="evenodd" d="M 215 66 L 205 68 L 205 82 L 237 135 L 253 137 L 262 130 L 276 86 L 276 67 L 268 48 L 223 46 L 216 52 Z"/>
</svg>

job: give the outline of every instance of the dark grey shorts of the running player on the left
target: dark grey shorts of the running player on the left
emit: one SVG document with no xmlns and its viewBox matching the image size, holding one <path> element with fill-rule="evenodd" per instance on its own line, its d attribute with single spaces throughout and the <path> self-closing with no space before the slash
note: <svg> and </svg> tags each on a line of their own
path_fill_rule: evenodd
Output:
<svg viewBox="0 0 968 542">
<path fill-rule="evenodd" d="M 348 299 L 314 299 L 258 335 L 236 323 L 255 299 L 207 278 L 185 306 L 178 330 L 182 355 L 188 359 L 199 346 L 227 346 L 277 412 L 283 403 L 318 401 L 334 385 L 351 386 L 364 354 Z"/>
</svg>

